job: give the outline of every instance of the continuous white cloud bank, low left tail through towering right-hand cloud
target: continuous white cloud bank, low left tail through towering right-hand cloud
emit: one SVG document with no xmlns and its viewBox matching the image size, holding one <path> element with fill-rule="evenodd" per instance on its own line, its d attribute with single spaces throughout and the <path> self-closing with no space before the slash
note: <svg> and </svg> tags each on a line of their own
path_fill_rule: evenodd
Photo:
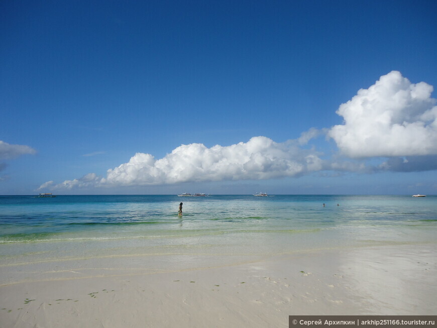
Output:
<svg viewBox="0 0 437 328">
<path fill-rule="evenodd" d="M 434 170 L 437 106 L 432 91 L 431 85 L 413 84 L 392 71 L 340 105 L 337 114 L 344 118 L 342 125 L 311 128 L 283 143 L 258 136 L 231 146 L 181 145 L 161 159 L 137 153 L 129 162 L 107 170 L 105 177 L 89 173 L 59 184 L 48 181 L 38 190 L 265 180 L 317 171 Z M 334 140 L 340 152 L 326 159 L 315 147 L 303 148 L 320 135 Z M 366 158 L 374 157 L 387 160 L 376 167 L 365 164 Z"/>
</svg>

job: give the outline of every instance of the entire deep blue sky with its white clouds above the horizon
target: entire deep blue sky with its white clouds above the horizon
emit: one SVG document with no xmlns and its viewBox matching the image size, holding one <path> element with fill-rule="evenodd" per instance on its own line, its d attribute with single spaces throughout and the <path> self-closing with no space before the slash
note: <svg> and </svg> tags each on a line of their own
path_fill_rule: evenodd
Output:
<svg viewBox="0 0 437 328">
<path fill-rule="evenodd" d="M 437 194 L 435 1 L 0 2 L 0 194 Z"/>
</svg>

